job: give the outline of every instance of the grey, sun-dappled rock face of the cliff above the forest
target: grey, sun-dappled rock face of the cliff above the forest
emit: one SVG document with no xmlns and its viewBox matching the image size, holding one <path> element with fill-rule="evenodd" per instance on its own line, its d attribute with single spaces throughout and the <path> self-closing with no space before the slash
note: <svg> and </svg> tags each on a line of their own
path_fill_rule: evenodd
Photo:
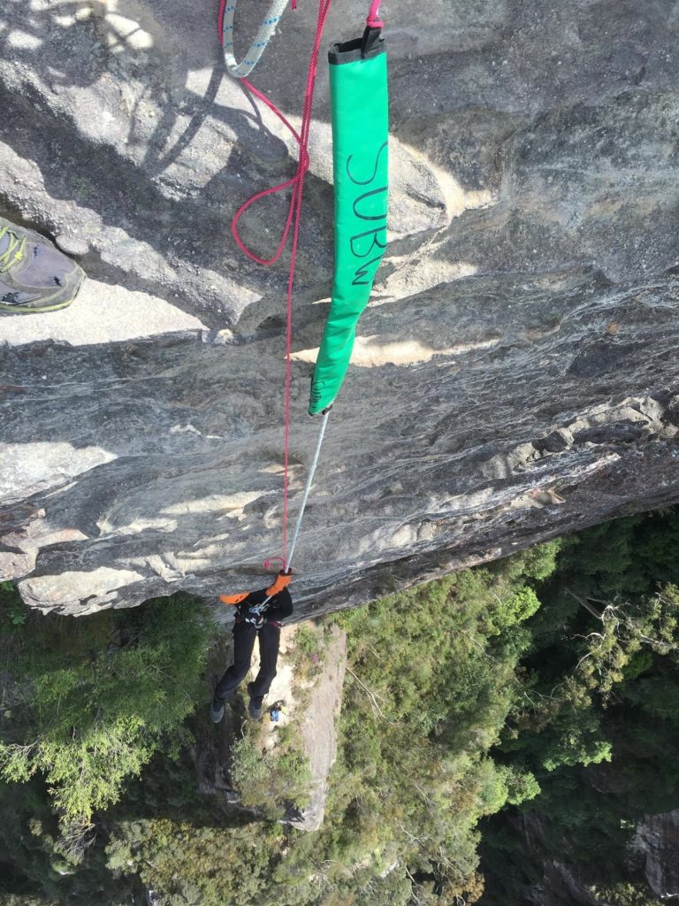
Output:
<svg viewBox="0 0 679 906">
<path fill-rule="evenodd" d="M 256 8 L 254 8 L 256 7 Z M 327 40 L 366 4 L 336 0 Z M 258 5 L 237 16 L 253 34 Z M 679 500 L 674 0 L 391 0 L 390 246 L 295 554 L 298 615 Z M 250 21 L 252 19 L 252 21 Z M 313 4 L 253 81 L 293 121 Z M 247 38 L 242 38 L 246 43 Z M 283 256 L 240 255 L 294 142 L 190 0 L 5 0 L 0 212 L 89 285 L 0 317 L 0 575 L 86 613 L 262 587 L 282 526 Z M 291 516 L 332 241 L 320 67 Z M 282 194 L 242 221 L 273 252 Z"/>
</svg>

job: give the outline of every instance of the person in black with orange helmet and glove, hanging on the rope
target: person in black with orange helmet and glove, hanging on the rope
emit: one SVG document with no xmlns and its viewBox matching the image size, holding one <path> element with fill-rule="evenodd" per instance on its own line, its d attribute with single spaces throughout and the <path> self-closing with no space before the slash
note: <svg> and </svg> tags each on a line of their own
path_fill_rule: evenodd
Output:
<svg viewBox="0 0 679 906">
<path fill-rule="evenodd" d="M 234 698 L 235 690 L 250 670 L 255 636 L 259 638 L 260 669 L 256 679 L 248 683 L 250 694 L 248 713 L 254 720 L 262 717 L 263 698 L 276 675 L 276 660 L 281 641 L 281 622 L 292 614 L 292 597 L 288 585 L 292 569 L 281 570 L 269 588 L 244 594 L 222 594 L 219 600 L 236 607 L 234 622 L 234 663 L 216 685 L 210 717 L 215 724 L 224 717 L 226 702 Z"/>
</svg>

